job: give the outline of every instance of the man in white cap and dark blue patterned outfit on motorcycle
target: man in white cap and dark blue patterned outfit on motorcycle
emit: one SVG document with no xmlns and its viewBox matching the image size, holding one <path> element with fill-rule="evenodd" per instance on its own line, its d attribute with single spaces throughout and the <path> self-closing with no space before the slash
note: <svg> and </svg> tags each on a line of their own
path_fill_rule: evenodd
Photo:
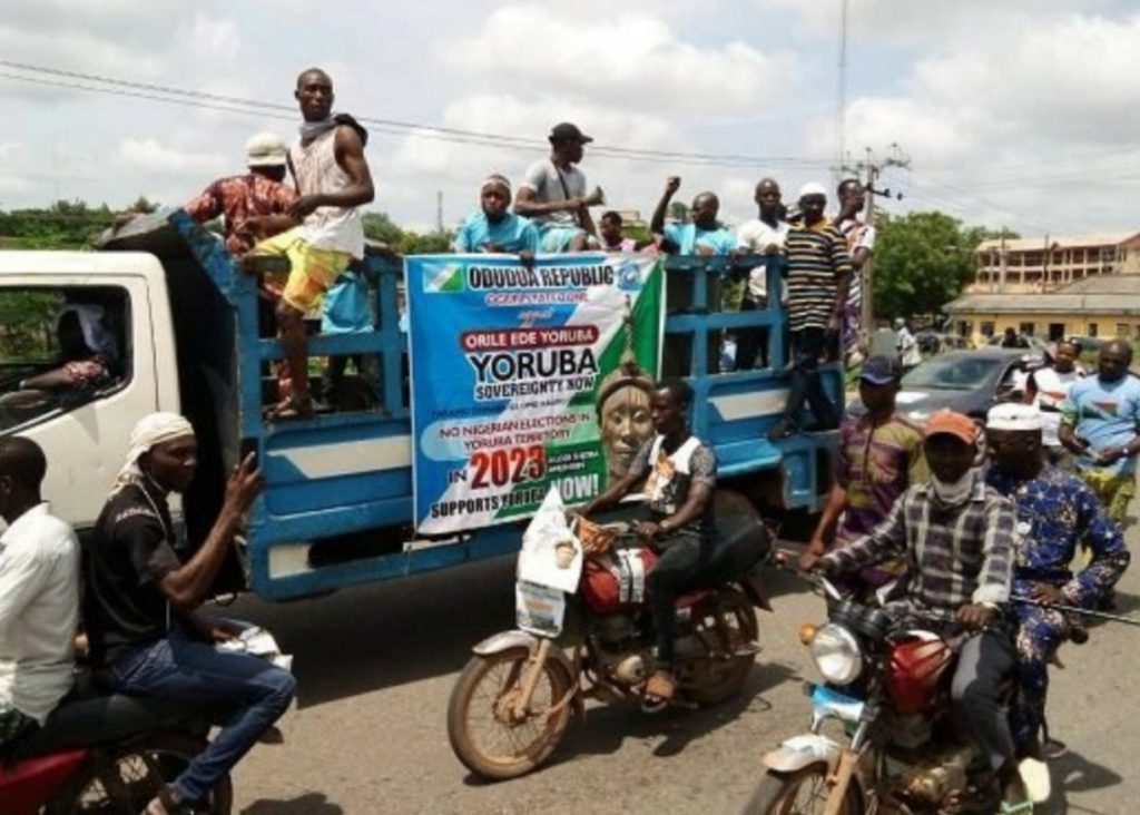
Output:
<svg viewBox="0 0 1140 815">
<path fill-rule="evenodd" d="M 1088 484 L 1044 463 L 1042 426 L 1032 405 L 999 405 L 986 421 L 993 457 L 986 481 L 1017 512 L 1013 596 L 1096 609 L 1129 565 L 1124 536 Z M 1086 546 L 1092 560 L 1074 574 L 1069 563 L 1078 546 Z M 1013 613 L 1019 663 L 1013 737 L 1024 755 L 1040 759 L 1049 661 L 1072 626 L 1066 614 L 1037 605 L 1015 603 Z"/>
</svg>

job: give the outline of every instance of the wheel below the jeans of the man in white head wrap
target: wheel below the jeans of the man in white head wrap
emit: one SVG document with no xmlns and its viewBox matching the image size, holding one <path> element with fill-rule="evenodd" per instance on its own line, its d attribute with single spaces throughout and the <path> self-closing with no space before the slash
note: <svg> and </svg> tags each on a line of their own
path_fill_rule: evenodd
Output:
<svg viewBox="0 0 1140 815">
<path fill-rule="evenodd" d="M 186 769 L 205 742 L 180 733 L 155 733 L 93 760 L 56 796 L 47 815 L 136 815 Z M 210 815 L 229 815 L 234 788 L 227 775 L 206 801 Z"/>
</svg>

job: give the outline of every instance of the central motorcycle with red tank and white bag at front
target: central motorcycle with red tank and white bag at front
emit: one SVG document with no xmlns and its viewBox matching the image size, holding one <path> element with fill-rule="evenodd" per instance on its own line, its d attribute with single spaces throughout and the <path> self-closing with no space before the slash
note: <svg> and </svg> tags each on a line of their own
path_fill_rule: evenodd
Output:
<svg viewBox="0 0 1140 815">
<path fill-rule="evenodd" d="M 771 611 L 759 581 L 771 537 L 747 500 L 736 498 L 718 496 L 718 507 L 732 506 L 733 512 L 725 516 L 718 511 L 706 577 L 677 600 L 673 704 L 731 699 L 759 652 L 755 609 Z M 654 657 L 649 605 L 638 587 L 652 568 L 652 553 L 626 522 L 591 525 L 594 533 L 612 536 L 616 551 L 603 562 L 587 560 L 572 594 L 520 580 L 520 629 L 475 645 L 451 691 L 448 739 L 456 757 L 479 776 L 513 779 L 543 765 L 587 699 L 643 698 Z M 616 602 L 598 600 L 597 587 L 610 580 L 608 573 L 613 574 Z"/>
</svg>

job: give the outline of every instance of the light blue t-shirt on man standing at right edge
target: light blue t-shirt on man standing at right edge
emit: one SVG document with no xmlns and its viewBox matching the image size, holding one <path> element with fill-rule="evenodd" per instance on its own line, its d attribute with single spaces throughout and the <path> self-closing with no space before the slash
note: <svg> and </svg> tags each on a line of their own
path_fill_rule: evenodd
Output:
<svg viewBox="0 0 1140 815">
<path fill-rule="evenodd" d="M 1116 382 L 1101 382 L 1099 376 L 1078 380 L 1061 404 L 1061 417 L 1089 442 L 1092 453 L 1124 447 L 1140 432 L 1140 380 L 1131 374 Z M 1135 472 L 1137 463 L 1134 456 L 1125 456 L 1106 466 L 1084 455 L 1077 457 L 1076 465 L 1123 475 Z"/>
</svg>

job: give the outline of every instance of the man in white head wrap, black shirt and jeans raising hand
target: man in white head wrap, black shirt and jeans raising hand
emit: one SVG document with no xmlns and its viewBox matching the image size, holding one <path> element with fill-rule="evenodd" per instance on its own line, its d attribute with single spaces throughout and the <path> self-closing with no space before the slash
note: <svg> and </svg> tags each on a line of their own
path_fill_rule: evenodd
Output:
<svg viewBox="0 0 1140 815">
<path fill-rule="evenodd" d="M 238 627 L 195 611 L 210 596 L 242 517 L 263 487 L 250 455 L 234 468 L 210 535 L 184 563 L 174 552 L 166 498 L 189 487 L 197 454 L 194 430 L 181 416 L 141 419 L 84 552 L 91 659 L 114 690 L 235 711 L 210 747 L 150 801 L 149 815 L 192 812 L 206 799 L 285 712 L 295 690 L 287 671 L 219 651 L 215 644 L 233 638 Z"/>
</svg>

